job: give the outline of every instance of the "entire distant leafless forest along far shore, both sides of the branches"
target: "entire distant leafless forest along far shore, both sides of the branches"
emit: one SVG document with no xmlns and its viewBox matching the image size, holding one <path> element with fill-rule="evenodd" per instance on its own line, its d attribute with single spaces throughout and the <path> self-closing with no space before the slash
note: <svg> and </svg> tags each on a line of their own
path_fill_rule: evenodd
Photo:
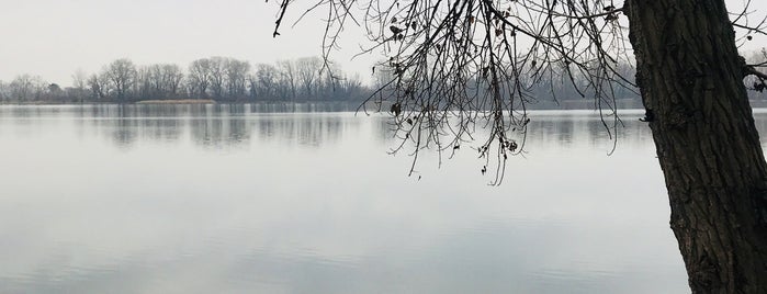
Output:
<svg viewBox="0 0 767 294">
<path fill-rule="evenodd" d="M 755 55 L 756 56 L 756 55 Z M 77 71 L 71 87 L 45 81 L 38 76 L 20 75 L 10 82 L 0 80 L 1 103 L 132 103 L 145 100 L 205 99 L 223 103 L 255 102 L 356 102 L 361 103 L 385 84 L 391 72 L 374 71 L 372 84 L 340 68 L 324 69 L 319 57 L 251 65 L 228 57 L 192 61 L 187 68 L 173 64 L 137 66 L 122 58 L 103 66 L 99 72 Z M 618 65 L 624 77 L 634 68 Z M 332 77 L 330 76 L 332 74 Z M 538 77 L 526 91 L 531 109 L 588 109 L 587 81 L 578 77 Z M 532 80 L 532 79 L 530 79 Z M 578 92 L 575 84 L 580 84 Z M 746 86 L 754 81 L 746 80 Z M 614 87 L 618 108 L 641 108 L 635 90 Z M 387 90 L 384 88 L 384 90 Z M 763 89 L 764 90 L 764 89 Z M 585 93 L 584 98 L 582 94 Z M 767 93 L 749 91 L 754 101 L 767 101 Z"/>
</svg>

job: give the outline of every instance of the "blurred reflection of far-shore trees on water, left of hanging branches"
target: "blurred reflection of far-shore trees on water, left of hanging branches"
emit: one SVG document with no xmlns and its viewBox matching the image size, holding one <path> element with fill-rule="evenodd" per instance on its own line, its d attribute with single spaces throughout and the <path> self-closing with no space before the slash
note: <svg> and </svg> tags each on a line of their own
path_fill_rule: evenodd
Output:
<svg viewBox="0 0 767 294">
<path fill-rule="evenodd" d="M 5 106 L 0 109 L 0 117 L 7 124 L 42 128 L 47 127 L 42 122 L 61 120 L 76 124 L 80 135 L 109 137 L 121 148 L 129 148 L 138 142 L 187 139 L 211 148 L 237 148 L 250 145 L 251 140 L 273 139 L 319 146 L 338 140 L 349 128 L 359 127 L 359 120 L 350 115 L 285 112 L 315 109 L 317 106 L 271 104 Z M 377 127 L 385 125 L 382 122 Z M 35 133 L 37 129 L 26 131 Z"/>
</svg>

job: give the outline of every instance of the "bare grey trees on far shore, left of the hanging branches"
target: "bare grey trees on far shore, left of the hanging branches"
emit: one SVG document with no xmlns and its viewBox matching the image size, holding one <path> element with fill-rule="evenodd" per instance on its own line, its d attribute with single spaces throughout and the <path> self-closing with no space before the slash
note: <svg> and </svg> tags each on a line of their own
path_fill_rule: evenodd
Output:
<svg viewBox="0 0 767 294">
<path fill-rule="evenodd" d="M 324 68 L 319 57 L 273 65 L 227 57 L 201 58 L 187 68 L 173 64 L 137 66 L 122 58 L 101 71 L 72 75 L 61 87 L 38 76 L 0 81 L 4 102 L 135 102 L 142 100 L 212 99 L 223 102 L 361 101 L 369 89 L 340 68 Z M 331 76 L 332 75 L 332 76 Z"/>
</svg>

